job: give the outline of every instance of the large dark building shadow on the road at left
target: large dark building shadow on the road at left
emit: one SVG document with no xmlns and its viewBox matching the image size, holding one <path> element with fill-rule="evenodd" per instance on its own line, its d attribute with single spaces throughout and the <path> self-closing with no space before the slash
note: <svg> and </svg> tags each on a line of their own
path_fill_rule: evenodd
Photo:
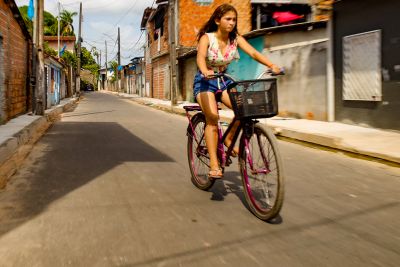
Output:
<svg viewBox="0 0 400 267">
<path fill-rule="evenodd" d="M 56 123 L 37 146 L 43 156 L 17 174 L 26 183 L 10 189 L 13 201 L 0 201 L 0 236 L 124 162 L 174 161 L 112 122 Z"/>
</svg>

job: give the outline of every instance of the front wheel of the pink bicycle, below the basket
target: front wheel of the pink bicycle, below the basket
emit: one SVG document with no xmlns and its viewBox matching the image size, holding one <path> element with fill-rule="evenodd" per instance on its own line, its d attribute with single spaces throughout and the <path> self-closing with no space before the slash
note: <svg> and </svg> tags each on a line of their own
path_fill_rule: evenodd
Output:
<svg viewBox="0 0 400 267">
<path fill-rule="evenodd" d="M 250 211 L 261 220 L 275 218 L 283 204 L 284 178 L 275 135 L 256 124 L 242 134 L 239 166 Z"/>
</svg>

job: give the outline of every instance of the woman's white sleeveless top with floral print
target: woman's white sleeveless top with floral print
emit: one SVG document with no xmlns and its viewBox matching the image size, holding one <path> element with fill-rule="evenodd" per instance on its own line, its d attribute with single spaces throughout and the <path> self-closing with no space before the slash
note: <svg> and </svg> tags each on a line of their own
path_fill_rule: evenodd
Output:
<svg viewBox="0 0 400 267">
<path fill-rule="evenodd" d="M 237 39 L 232 41 L 225 48 L 225 54 L 223 55 L 223 51 L 219 49 L 218 39 L 215 36 L 215 32 L 208 32 L 206 34 L 210 42 L 206 57 L 207 68 L 212 69 L 215 72 L 223 72 L 228 68 L 228 65 L 233 60 L 238 60 L 240 58 L 237 49 Z"/>
</svg>

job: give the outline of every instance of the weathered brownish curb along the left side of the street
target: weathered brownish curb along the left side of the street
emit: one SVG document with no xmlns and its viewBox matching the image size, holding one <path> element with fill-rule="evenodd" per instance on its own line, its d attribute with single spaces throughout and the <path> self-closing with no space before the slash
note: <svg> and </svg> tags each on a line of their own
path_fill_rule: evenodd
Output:
<svg viewBox="0 0 400 267">
<path fill-rule="evenodd" d="M 47 110 L 44 116 L 21 115 L 14 120 L 27 120 L 28 124 L 17 123 L 21 127 L 12 136 L 0 143 L 0 189 L 3 189 L 12 175 L 21 166 L 28 156 L 33 145 L 43 136 L 47 129 L 57 120 L 61 114 L 72 108 L 79 101 L 79 97 L 64 100 L 65 103 Z M 10 123 L 10 122 L 9 122 Z"/>
</svg>

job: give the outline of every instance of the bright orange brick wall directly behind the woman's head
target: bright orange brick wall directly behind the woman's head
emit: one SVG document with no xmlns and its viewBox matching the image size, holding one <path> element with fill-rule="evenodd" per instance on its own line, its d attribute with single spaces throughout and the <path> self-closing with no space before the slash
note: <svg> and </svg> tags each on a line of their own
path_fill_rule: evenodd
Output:
<svg viewBox="0 0 400 267">
<path fill-rule="evenodd" d="M 250 0 L 214 0 L 208 6 L 200 6 L 193 0 L 179 1 L 179 45 L 196 46 L 196 36 L 200 28 L 221 4 L 233 5 L 238 11 L 238 31 L 240 34 L 251 30 Z"/>
</svg>

